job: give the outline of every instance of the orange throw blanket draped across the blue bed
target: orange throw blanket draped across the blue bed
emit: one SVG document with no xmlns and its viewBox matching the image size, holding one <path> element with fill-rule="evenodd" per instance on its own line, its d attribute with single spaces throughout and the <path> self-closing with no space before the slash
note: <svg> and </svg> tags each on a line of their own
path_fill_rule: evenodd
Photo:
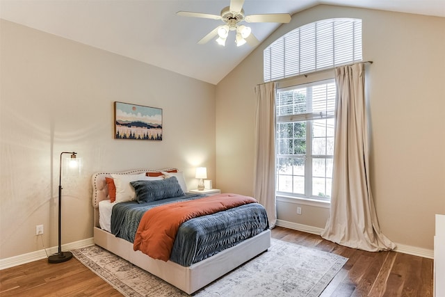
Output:
<svg viewBox="0 0 445 297">
<path fill-rule="evenodd" d="M 167 262 L 177 230 L 186 220 L 254 202 L 257 200 L 248 196 L 221 194 L 154 207 L 140 220 L 133 250 Z"/>
</svg>

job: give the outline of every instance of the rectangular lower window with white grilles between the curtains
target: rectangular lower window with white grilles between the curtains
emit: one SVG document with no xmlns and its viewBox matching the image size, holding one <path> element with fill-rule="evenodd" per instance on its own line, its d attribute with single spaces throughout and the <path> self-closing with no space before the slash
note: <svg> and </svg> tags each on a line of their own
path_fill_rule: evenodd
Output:
<svg viewBox="0 0 445 297">
<path fill-rule="evenodd" d="M 334 79 L 277 90 L 277 193 L 330 199 L 335 93 Z"/>
</svg>

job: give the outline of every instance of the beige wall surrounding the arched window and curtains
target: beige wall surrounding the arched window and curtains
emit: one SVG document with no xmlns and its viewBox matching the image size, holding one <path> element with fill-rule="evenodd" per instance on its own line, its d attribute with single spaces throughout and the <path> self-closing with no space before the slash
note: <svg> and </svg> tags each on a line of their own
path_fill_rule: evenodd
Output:
<svg viewBox="0 0 445 297">
<path fill-rule="evenodd" d="M 319 19 L 363 19 L 368 66 L 371 184 L 382 231 L 396 243 L 432 250 L 435 214 L 445 213 L 445 18 L 335 6 L 293 15 L 216 90 L 216 175 L 223 191 L 252 195 L 254 86 L 263 50 Z M 303 207 L 302 215 L 296 207 Z M 277 202 L 278 219 L 324 227 L 328 211 Z"/>
</svg>

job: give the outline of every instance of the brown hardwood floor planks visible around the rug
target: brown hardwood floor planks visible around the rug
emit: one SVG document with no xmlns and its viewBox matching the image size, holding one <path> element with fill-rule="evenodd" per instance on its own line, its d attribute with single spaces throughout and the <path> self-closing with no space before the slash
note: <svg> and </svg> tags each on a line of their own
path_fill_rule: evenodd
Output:
<svg viewBox="0 0 445 297">
<path fill-rule="evenodd" d="M 354 250 L 283 227 L 275 227 L 272 236 L 349 259 L 321 296 L 432 296 L 432 259 Z M 0 271 L 0 296 L 122 295 L 76 259 L 60 264 L 42 259 Z"/>
</svg>

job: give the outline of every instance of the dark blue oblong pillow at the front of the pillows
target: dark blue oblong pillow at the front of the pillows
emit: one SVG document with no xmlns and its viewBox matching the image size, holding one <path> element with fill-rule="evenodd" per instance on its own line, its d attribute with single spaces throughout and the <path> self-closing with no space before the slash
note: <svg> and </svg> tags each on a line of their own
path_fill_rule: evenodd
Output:
<svg viewBox="0 0 445 297">
<path fill-rule="evenodd" d="M 130 182 L 136 192 L 136 201 L 146 203 L 184 195 L 176 177 L 161 180 Z"/>
</svg>

